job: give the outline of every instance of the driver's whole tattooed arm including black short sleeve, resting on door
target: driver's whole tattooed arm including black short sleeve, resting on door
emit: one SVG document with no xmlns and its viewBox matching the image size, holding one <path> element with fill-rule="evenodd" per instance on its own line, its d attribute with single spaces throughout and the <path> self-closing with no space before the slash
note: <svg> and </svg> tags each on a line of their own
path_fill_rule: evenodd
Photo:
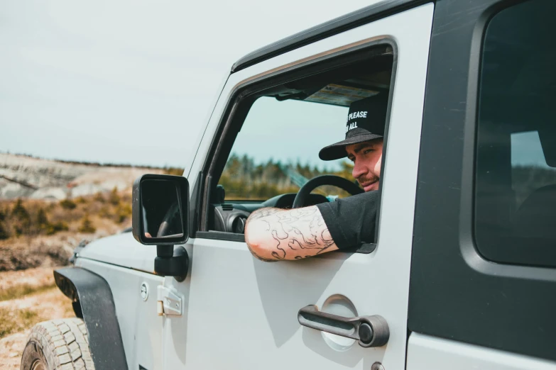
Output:
<svg viewBox="0 0 556 370">
<path fill-rule="evenodd" d="M 375 242 L 378 191 L 295 209 L 251 213 L 245 240 L 263 261 L 301 259 Z"/>
</svg>

